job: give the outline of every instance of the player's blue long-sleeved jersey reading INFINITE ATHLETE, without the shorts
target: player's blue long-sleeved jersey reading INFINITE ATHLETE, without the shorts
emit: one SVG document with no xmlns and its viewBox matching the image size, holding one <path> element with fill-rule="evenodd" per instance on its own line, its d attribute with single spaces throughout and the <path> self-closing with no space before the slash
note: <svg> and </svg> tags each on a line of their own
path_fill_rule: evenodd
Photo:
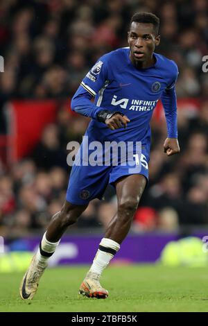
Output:
<svg viewBox="0 0 208 326">
<path fill-rule="evenodd" d="M 166 106 L 166 118 L 176 115 L 175 90 L 171 101 L 166 103 L 166 92 L 174 89 L 177 65 L 163 55 L 153 53 L 155 65 L 138 69 L 129 58 L 130 48 L 117 49 L 103 55 L 83 79 L 72 99 L 72 109 L 92 117 L 85 135 L 98 141 L 150 141 L 150 119 L 159 98 Z M 87 92 L 94 96 L 94 105 L 82 110 L 81 98 Z M 173 94 L 174 93 L 174 94 Z M 167 104 L 167 105 L 166 105 Z M 80 110 L 79 110 L 80 109 Z M 96 119 L 99 110 L 120 111 L 130 122 L 127 128 L 110 130 Z M 175 119 L 176 121 L 177 119 Z M 177 126 L 173 123 L 168 137 L 177 137 Z"/>
</svg>

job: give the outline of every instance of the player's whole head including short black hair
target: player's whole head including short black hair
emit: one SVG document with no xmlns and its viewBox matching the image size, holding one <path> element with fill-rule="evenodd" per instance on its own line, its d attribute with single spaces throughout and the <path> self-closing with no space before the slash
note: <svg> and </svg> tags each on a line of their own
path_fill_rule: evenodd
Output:
<svg viewBox="0 0 208 326">
<path fill-rule="evenodd" d="M 130 21 L 128 44 L 130 58 L 144 62 L 152 58 L 155 46 L 159 44 L 159 18 L 151 12 L 137 12 Z"/>
</svg>

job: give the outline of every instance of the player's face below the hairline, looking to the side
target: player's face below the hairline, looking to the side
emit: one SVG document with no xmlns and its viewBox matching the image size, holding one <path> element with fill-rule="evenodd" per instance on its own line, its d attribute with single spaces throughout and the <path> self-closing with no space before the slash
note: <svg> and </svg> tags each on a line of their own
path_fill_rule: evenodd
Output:
<svg viewBox="0 0 208 326">
<path fill-rule="evenodd" d="M 132 22 L 128 44 L 132 63 L 146 67 L 153 63 L 153 52 L 159 44 L 159 35 L 155 35 L 153 24 Z"/>
</svg>

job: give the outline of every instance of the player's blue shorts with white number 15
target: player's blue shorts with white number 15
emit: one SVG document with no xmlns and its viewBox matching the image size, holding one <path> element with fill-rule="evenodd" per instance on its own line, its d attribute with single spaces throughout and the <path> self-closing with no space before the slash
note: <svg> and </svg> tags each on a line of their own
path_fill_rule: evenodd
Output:
<svg viewBox="0 0 208 326">
<path fill-rule="evenodd" d="M 141 174 L 148 181 L 149 151 L 141 151 L 141 162 L 137 166 L 83 166 L 73 164 L 66 199 L 74 205 L 87 205 L 94 198 L 102 199 L 108 184 L 125 175 Z"/>
</svg>

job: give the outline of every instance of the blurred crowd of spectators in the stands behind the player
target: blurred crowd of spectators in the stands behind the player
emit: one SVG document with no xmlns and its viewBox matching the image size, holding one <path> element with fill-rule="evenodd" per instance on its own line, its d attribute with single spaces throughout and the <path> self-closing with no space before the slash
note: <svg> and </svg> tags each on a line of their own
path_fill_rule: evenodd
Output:
<svg viewBox="0 0 208 326">
<path fill-rule="evenodd" d="M 166 157 L 166 124 L 153 121 L 150 182 L 135 214 L 135 231 L 174 231 L 180 225 L 208 225 L 208 55 L 206 0 L 7 0 L 0 3 L 0 108 L 14 98 L 73 96 L 89 68 L 103 53 L 127 46 L 130 17 L 151 11 L 161 19 L 158 53 L 175 60 L 178 98 L 200 98 L 194 114 L 179 110 L 181 153 Z M 2 112 L 0 119 L 3 121 Z M 28 234 L 45 228 L 60 210 L 70 172 L 66 146 L 81 141 L 85 117 L 60 107 L 30 157 L 0 169 L 1 234 Z M 5 126 L 1 123 L 1 133 Z M 116 212 L 114 190 L 94 200 L 73 228 L 104 227 Z"/>
</svg>

